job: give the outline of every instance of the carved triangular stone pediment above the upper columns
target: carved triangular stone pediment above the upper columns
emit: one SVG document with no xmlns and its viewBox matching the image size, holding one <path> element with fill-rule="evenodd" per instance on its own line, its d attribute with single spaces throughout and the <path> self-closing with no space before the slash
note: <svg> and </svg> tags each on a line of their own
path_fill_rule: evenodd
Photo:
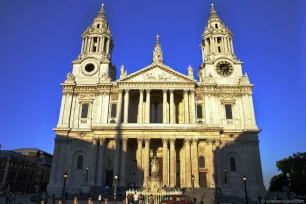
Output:
<svg viewBox="0 0 306 204">
<path fill-rule="evenodd" d="M 181 82 L 196 83 L 196 80 L 179 73 L 164 64 L 153 63 L 137 72 L 121 78 L 117 82 Z"/>
</svg>

